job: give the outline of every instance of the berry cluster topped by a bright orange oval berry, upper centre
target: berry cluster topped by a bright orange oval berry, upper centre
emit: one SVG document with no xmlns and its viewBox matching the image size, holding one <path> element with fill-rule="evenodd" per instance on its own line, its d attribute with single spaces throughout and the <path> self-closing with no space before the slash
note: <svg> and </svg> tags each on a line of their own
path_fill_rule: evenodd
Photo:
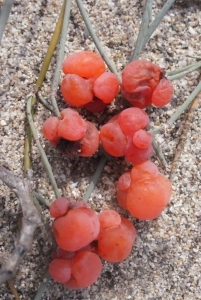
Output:
<svg viewBox="0 0 201 300">
<path fill-rule="evenodd" d="M 104 60 L 96 53 L 82 51 L 70 55 L 63 63 L 66 74 L 61 84 L 64 100 L 91 112 L 103 110 L 119 92 L 118 77 L 106 72 Z"/>
</svg>

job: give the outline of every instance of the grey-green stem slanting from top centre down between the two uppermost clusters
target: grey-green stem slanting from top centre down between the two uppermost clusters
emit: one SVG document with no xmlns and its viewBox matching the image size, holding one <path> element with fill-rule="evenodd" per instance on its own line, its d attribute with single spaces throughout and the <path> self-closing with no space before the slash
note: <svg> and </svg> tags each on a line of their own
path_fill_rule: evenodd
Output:
<svg viewBox="0 0 201 300">
<path fill-rule="evenodd" d="M 90 35 L 91 35 L 91 37 L 92 37 L 92 39 L 94 41 L 94 44 L 96 45 L 96 47 L 98 49 L 100 55 L 104 59 L 104 61 L 107 64 L 108 68 L 110 69 L 110 71 L 117 75 L 117 77 L 119 79 L 119 82 L 121 83 L 121 76 L 117 72 L 114 63 L 109 59 L 109 57 L 105 53 L 105 50 L 104 50 L 103 46 L 101 45 L 101 43 L 100 43 L 100 41 L 99 41 L 99 39 L 98 39 L 98 37 L 97 37 L 94 29 L 93 29 L 93 26 L 92 26 L 92 24 L 91 24 L 91 22 L 89 20 L 89 16 L 86 13 L 86 10 L 84 8 L 84 5 L 82 4 L 82 1 L 81 0 L 76 0 L 76 2 L 77 2 L 77 6 L 78 6 L 78 8 L 80 10 L 80 13 L 81 13 L 81 15 L 83 17 L 83 20 L 84 20 L 84 22 L 86 24 L 86 27 L 87 27 L 87 29 L 88 29 L 88 31 L 89 31 L 89 33 L 90 33 Z"/>
</svg>

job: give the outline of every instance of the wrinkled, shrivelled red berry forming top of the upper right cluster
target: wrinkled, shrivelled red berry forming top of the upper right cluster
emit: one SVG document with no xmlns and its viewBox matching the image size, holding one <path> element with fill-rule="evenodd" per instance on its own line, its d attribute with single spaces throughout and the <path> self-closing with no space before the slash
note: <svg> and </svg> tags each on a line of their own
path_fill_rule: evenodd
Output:
<svg viewBox="0 0 201 300">
<path fill-rule="evenodd" d="M 127 92 L 134 93 L 136 88 L 148 86 L 152 91 L 160 81 L 162 69 L 146 60 L 129 63 L 122 72 L 122 84 Z"/>
</svg>

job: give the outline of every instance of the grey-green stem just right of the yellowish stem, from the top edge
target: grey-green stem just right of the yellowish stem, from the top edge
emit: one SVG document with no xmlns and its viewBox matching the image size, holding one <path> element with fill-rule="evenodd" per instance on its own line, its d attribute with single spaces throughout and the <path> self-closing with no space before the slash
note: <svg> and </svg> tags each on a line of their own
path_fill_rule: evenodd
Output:
<svg viewBox="0 0 201 300">
<path fill-rule="evenodd" d="M 66 2 L 64 21 L 63 21 L 62 32 L 61 32 L 60 48 L 59 48 L 59 53 L 58 53 L 58 57 L 57 57 L 57 64 L 56 64 L 56 69 L 55 69 L 55 73 L 54 73 L 53 83 L 52 83 L 52 97 L 51 97 L 52 106 L 54 109 L 54 113 L 58 118 L 61 118 L 61 115 L 60 115 L 60 111 L 57 106 L 55 92 L 58 88 L 62 62 L 64 59 L 64 51 L 65 51 L 65 44 L 66 44 L 66 36 L 67 36 L 67 32 L 68 32 L 68 23 L 69 23 L 69 19 L 70 19 L 71 3 L 72 3 L 72 0 L 67 0 L 67 2 Z"/>
</svg>

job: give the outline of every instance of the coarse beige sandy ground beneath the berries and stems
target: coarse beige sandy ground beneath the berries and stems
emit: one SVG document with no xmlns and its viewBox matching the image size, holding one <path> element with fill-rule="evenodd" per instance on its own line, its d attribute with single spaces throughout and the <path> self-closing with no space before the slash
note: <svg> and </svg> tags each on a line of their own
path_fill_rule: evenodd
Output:
<svg viewBox="0 0 201 300">
<path fill-rule="evenodd" d="M 144 1 L 143 1 L 144 2 Z M 165 1 L 153 1 L 153 19 Z M 118 71 L 127 64 L 140 25 L 143 3 L 127 0 L 83 1 L 105 51 L 115 62 Z M 60 0 L 19 1 L 12 8 L 0 48 L 0 164 L 15 174 L 23 175 L 25 103 L 33 91 L 55 22 L 61 8 Z M 176 1 L 155 31 L 141 58 L 146 58 L 174 70 L 196 61 L 200 56 L 201 5 L 199 1 Z M 79 50 L 95 50 L 75 2 L 71 11 L 65 55 Z M 96 50 L 95 50 L 96 51 Z M 200 57 L 201 58 L 201 57 Z M 56 55 L 43 85 L 42 93 L 50 93 Z M 193 72 L 173 82 L 175 94 L 164 108 L 149 108 L 151 125 L 163 124 L 175 112 L 198 84 L 199 72 Z M 66 107 L 58 96 L 59 107 Z M 115 112 L 115 105 L 97 116 L 83 112 L 98 126 Z M 50 113 L 37 106 L 35 126 L 41 135 L 41 125 Z M 187 114 L 175 125 L 157 136 L 168 168 L 160 171 L 169 175 L 171 162 Z M 130 217 L 117 205 L 116 182 L 119 173 L 111 162 L 105 166 L 101 179 L 92 193 L 89 204 L 97 212 L 114 208 L 129 217 L 137 229 L 137 241 L 131 255 L 118 264 L 103 263 L 101 277 L 87 289 L 68 291 L 50 280 L 42 299 L 90 300 L 197 300 L 201 299 L 201 107 L 198 105 L 190 126 L 178 169 L 173 178 L 173 196 L 162 215 L 143 222 Z M 69 159 L 62 157 L 41 135 L 59 188 L 64 194 L 80 199 L 95 171 L 99 156 Z M 32 148 L 32 168 L 36 190 L 50 201 L 54 199 L 36 146 Z M 123 164 L 124 169 L 130 166 Z M 0 185 L 0 259 L 5 260 L 17 239 L 18 199 L 5 185 Z M 45 222 L 51 223 L 48 210 L 43 207 Z M 32 300 L 38 290 L 53 250 L 50 231 L 41 226 L 36 232 L 32 251 L 20 265 L 14 279 L 20 299 Z M 0 299 L 15 299 L 7 284 L 0 288 Z"/>
</svg>

